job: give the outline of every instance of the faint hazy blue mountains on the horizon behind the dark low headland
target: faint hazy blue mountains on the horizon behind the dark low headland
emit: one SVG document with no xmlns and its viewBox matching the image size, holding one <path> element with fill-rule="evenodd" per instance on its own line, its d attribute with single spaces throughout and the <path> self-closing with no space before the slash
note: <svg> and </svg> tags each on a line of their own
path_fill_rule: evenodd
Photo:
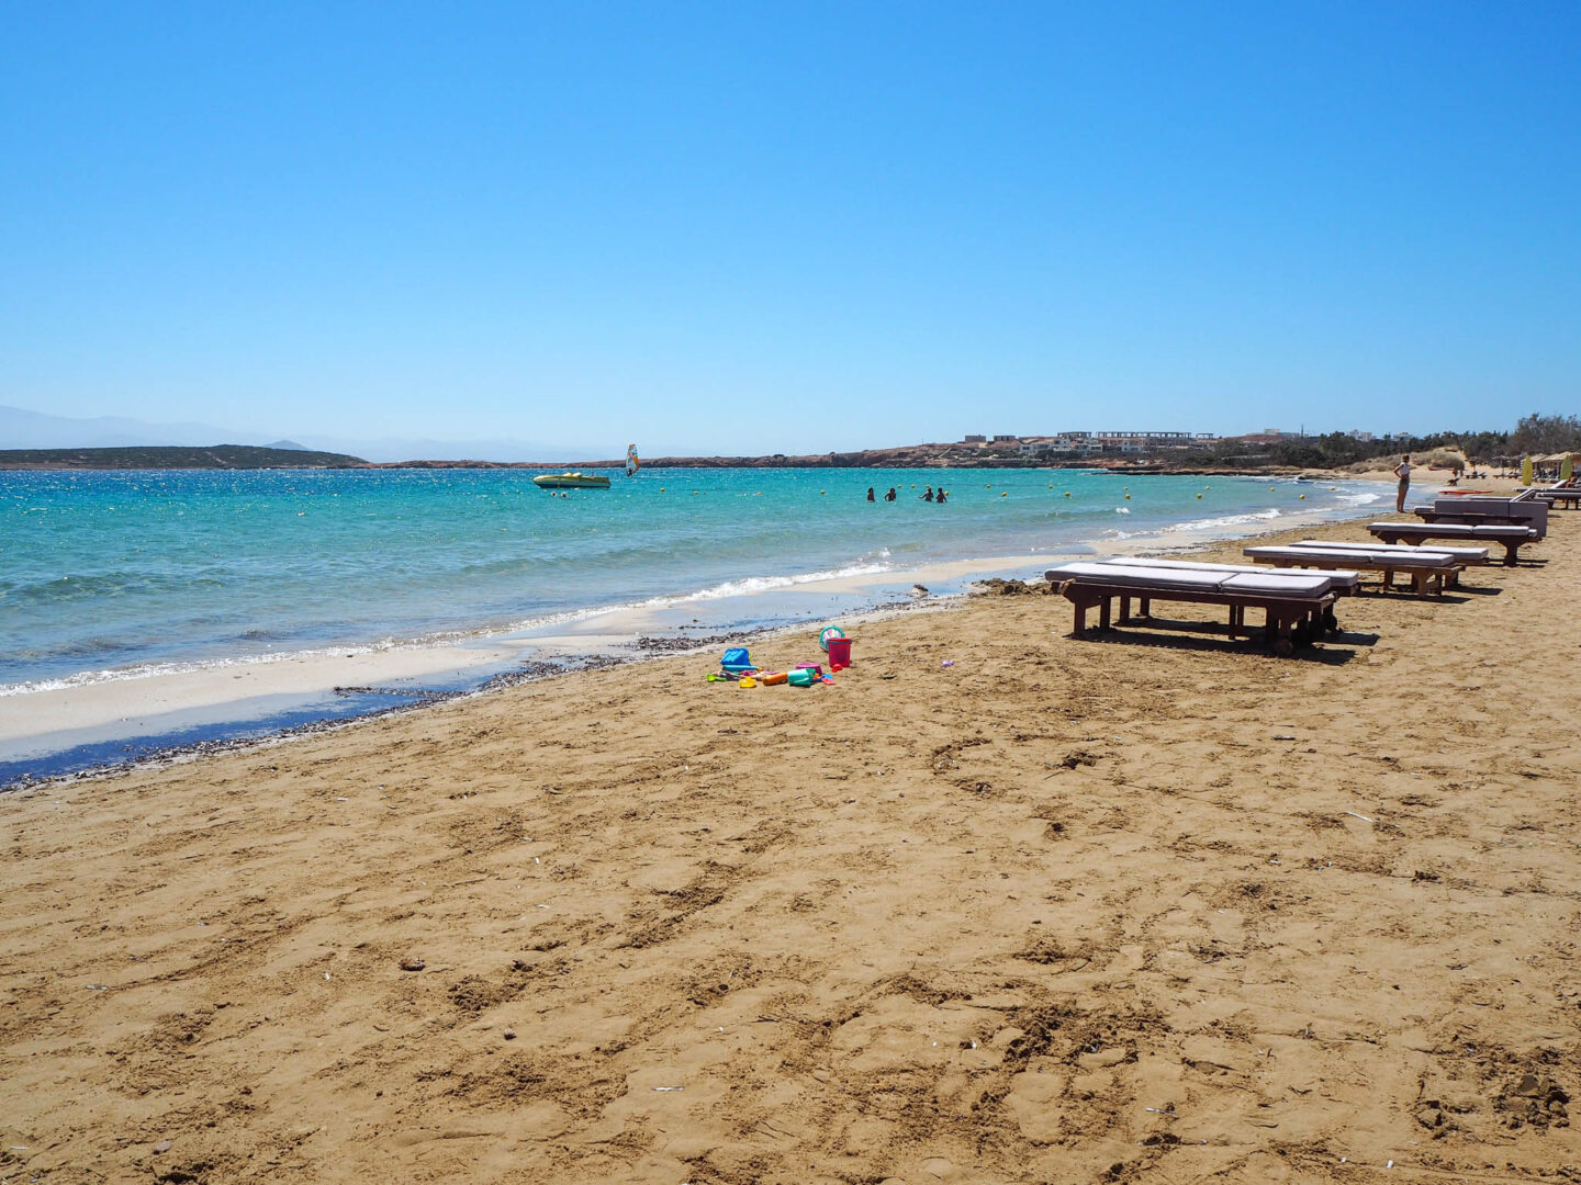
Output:
<svg viewBox="0 0 1581 1185">
<path fill-rule="evenodd" d="M 0 404 L 0 449 L 125 449 L 145 446 L 247 444 L 299 452 L 334 452 L 370 461 L 479 460 L 564 461 L 617 455 L 610 446 L 553 446 L 533 441 L 440 441 L 428 438 L 368 438 L 304 434 L 270 441 L 259 433 L 212 423 L 150 423 L 125 416 L 76 419 Z"/>
</svg>

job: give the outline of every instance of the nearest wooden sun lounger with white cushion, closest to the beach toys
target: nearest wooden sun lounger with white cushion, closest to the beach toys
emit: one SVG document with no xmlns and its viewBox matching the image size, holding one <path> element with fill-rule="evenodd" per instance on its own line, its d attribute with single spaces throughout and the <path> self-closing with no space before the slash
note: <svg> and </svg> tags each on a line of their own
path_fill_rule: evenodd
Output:
<svg viewBox="0 0 1581 1185">
<path fill-rule="evenodd" d="M 1189 564 L 1181 561 L 1080 561 L 1051 567 L 1048 583 L 1075 607 L 1075 635 L 1086 630 L 1086 611 L 1099 610 L 1099 629 L 1110 629 L 1110 604 L 1119 599 L 1115 624 L 1132 621 L 1130 602 L 1138 602 L 1138 618 L 1149 618 L 1154 600 L 1189 600 L 1227 605 L 1230 637 L 1251 637 L 1246 610 L 1263 610 L 1263 634 L 1276 654 L 1295 651 L 1334 627 L 1334 599 L 1353 586 L 1344 574 L 1268 572 L 1230 564 Z"/>
</svg>

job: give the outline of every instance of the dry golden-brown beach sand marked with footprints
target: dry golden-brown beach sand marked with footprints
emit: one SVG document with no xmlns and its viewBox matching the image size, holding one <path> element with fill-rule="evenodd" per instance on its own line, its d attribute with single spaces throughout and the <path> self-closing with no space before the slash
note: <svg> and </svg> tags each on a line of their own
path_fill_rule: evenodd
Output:
<svg viewBox="0 0 1581 1185">
<path fill-rule="evenodd" d="M 1289 660 L 977 597 L 8 796 L 0 1179 L 1575 1179 L 1578 540 Z"/>
</svg>

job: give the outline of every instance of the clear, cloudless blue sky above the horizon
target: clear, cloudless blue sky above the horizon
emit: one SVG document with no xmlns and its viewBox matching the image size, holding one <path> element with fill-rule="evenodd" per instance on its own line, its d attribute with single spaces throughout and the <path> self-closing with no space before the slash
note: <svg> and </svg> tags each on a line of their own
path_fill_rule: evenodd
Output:
<svg viewBox="0 0 1581 1185">
<path fill-rule="evenodd" d="M 9 3 L 0 403 L 800 452 L 1578 411 L 1576 3 Z"/>
</svg>

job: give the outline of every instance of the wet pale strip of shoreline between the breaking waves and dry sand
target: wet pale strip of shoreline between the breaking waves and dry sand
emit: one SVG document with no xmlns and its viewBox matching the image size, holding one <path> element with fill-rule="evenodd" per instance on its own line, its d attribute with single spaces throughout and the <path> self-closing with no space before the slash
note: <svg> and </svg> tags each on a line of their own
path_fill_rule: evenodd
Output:
<svg viewBox="0 0 1581 1185">
<path fill-rule="evenodd" d="M 1270 529 L 1274 521 L 1279 526 Z M 776 619 L 745 629 L 718 621 L 700 624 L 696 616 L 683 623 L 681 618 L 705 610 L 689 597 L 670 597 L 659 605 L 594 608 L 571 615 L 571 621 L 481 632 L 462 641 L 262 656 L 250 662 L 0 695 L 0 793 L 286 741 L 530 679 L 768 640 L 805 629 L 803 618 L 813 618 L 817 626 L 849 627 L 915 608 L 915 600 L 906 594 L 907 585 L 949 588 L 942 596 L 926 594 L 930 607 L 947 607 L 969 596 L 974 585 L 994 577 L 1040 577 L 1042 569 L 1061 556 L 1190 553 L 1225 540 L 1274 537 L 1347 521 L 1355 520 L 1334 518 L 1333 512 L 1289 514 L 1051 545 L 1026 556 L 809 580 L 773 589 L 768 596 L 779 602 Z M 746 604 L 762 599 L 762 592 L 735 597 Z M 792 608 L 798 599 L 813 602 L 813 608 Z M 849 604 L 841 605 L 841 600 Z M 688 630 L 704 630 L 707 640 L 692 643 Z M 243 711 L 248 705 L 251 709 Z M 41 722 L 51 727 L 41 728 Z"/>
</svg>

